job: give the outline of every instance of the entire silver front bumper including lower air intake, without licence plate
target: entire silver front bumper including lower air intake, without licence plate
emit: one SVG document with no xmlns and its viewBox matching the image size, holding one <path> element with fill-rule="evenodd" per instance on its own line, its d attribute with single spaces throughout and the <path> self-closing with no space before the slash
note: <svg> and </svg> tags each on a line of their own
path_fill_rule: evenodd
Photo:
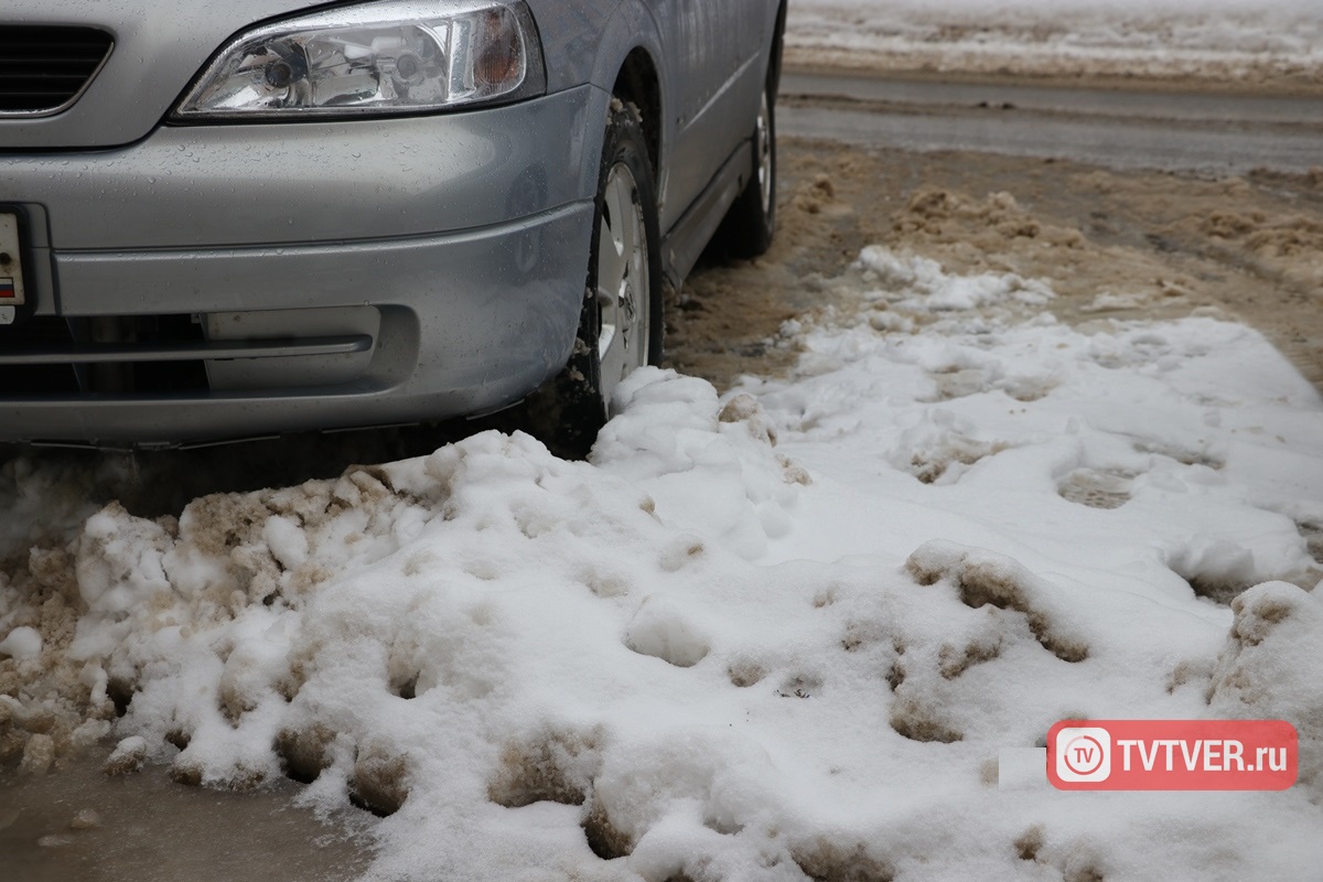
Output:
<svg viewBox="0 0 1323 882">
<path fill-rule="evenodd" d="M 0 440 L 156 446 L 519 399 L 573 345 L 607 99 L 0 155 L 33 313 L 0 328 Z"/>
</svg>

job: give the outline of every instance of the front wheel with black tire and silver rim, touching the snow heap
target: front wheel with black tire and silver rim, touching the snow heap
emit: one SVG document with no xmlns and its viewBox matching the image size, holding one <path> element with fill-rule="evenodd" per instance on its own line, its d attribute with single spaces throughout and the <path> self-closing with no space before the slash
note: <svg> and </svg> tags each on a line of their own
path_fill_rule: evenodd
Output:
<svg viewBox="0 0 1323 882">
<path fill-rule="evenodd" d="M 662 361 L 662 235 L 638 107 L 611 99 L 598 172 L 587 282 L 569 364 L 532 402 L 534 431 L 582 459 L 610 417 L 611 394 Z"/>
</svg>

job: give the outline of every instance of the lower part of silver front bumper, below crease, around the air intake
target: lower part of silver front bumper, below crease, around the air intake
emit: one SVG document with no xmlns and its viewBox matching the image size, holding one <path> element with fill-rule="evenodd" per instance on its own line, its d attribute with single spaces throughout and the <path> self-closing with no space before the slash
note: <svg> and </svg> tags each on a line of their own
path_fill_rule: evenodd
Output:
<svg viewBox="0 0 1323 882">
<path fill-rule="evenodd" d="M 295 386 L 274 374 L 253 390 L 0 395 L 0 432 L 9 440 L 168 446 L 263 435 L 273 426 L 339 428 L 497 409 L 569 357 L 591 214 L 589 202 L 501 227 L 392 243 L 111 255 L 123 272 L 110 292 L 127 304 L 135 304 L 138 286 L 139 294 L 165 291 L 153 296 L 169 311 L 187 307 L 189 298 L 180 295 L 188 292 L 210 307 L 208 315 L 233 311 L 259 319 L 267 311 L 304 308 L 306 321 L 316 321 L 323 309 L 370 301 L 382 320 L 369 366 L 333 386 Z M 208 263 L 225 270 L 212 271 Z M 364 267 L 384 263 L 393 267 L 384 279 L 365 274 Z M 197 264 L 196 275 L 181 270 L 189 264 Z M 105 268 L 75 261 L 61 272 L 97 287 Z M 310 308 L 314 300 L 318 307 Z"/>
</svg>

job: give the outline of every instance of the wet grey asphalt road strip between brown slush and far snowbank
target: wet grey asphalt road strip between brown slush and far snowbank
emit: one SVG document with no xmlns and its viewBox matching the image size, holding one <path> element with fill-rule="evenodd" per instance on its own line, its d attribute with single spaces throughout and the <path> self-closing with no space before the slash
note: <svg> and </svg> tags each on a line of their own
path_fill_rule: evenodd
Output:
<svg viewBox="0 0 1323 882">
<path fill-rule="evenodd" d="M 1240 175 L 1323 167 L 1323 99 L 943 83 L 787 71 L 779 134 L 1113 168 Z"/>
</svg>

